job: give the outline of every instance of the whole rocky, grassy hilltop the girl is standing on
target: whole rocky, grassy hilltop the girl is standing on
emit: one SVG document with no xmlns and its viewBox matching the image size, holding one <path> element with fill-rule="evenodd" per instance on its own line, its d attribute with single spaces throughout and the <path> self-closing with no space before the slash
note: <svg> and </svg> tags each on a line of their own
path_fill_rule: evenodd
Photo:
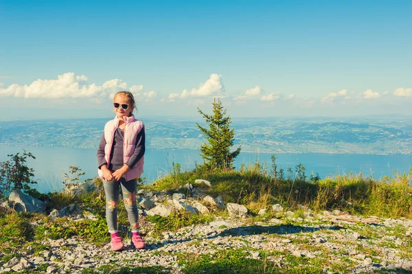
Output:
<svg viewBox="0 0 412 274">
<path fill-rule="evenodd" d="M 141 251 L 110 251 L 97 179 L 91 192 L 44 194 L 43 214 L 3 207 L 1 271 L 412 273 L 412 174 L 293 178 L 277 179 L 261 165 L 190 172 L 176 166 L 139 187 L 148 242 Z M 122 203 L 119 212 L 127 238 Z"/>
</svg>

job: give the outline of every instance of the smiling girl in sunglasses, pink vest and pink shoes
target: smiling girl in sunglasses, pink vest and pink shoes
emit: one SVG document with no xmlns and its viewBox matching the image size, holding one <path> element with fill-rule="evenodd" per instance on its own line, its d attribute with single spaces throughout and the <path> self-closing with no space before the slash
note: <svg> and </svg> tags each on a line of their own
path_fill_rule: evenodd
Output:
<svg viewBox="0 0 412 274">
<path fill-rule="evenodd" d="M 98 173 L 104 179 L 106 194 L 106 220 L 111 233 L 111 248 L 124 248 L 117 233 L 117 205 L 119 189 L 122 187 L 124 207 L 132 230 L 131 242 L 136 249 L 145 247 L 139 236 L 139 215 L 136 205 L 136 179 L 143 172 L 145 133 L 143 122 L 135 119 L 135 98 L 128 91 L 119 91 L 113 98 L 115 119 L 104 126 L 104 133 L 98 148 Z"/>
</svg>

